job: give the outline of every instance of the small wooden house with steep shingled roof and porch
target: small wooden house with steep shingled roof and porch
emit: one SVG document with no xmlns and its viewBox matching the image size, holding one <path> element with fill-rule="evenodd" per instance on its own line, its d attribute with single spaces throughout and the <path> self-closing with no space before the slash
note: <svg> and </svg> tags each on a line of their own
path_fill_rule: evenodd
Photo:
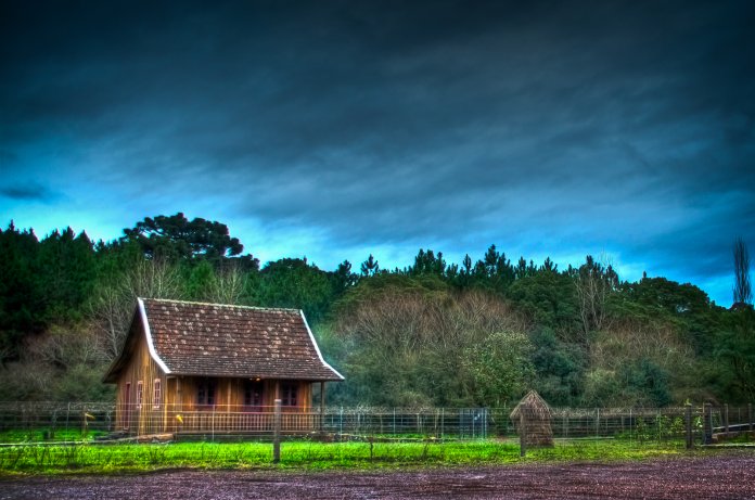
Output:
<svg viewBox="0 0 755 500">
<path fill-rule="evenodd" d="M 316 428 L 312 385 L 344 377 L 322 358 L 300 310 L 139 298 L 120 356 L 115 428 L 265 432 L 281 400 L 289 430 Z"/>
</svg>

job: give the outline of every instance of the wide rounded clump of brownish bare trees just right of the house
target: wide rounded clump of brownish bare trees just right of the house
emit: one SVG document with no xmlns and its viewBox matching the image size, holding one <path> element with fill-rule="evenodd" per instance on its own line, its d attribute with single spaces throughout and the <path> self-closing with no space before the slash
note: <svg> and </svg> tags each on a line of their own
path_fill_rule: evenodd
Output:
<svg viewBox="0 0 755 500">
<path fill-rule="evenodd" d="M 355 393 L 394 406 L 507 400 L 523 373 L 507 362 L 529 342 L 524 318 L 481 291 L 385 290 L 341 310 L 333 329 Z"/>
</svg>

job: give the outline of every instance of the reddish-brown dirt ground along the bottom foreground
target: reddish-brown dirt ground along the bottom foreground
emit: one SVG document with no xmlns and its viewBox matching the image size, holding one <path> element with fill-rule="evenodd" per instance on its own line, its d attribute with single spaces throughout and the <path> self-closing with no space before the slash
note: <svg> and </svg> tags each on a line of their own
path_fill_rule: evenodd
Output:
<svg viewBox="0 0 755 500">
<path fill-rule="evenodd" d="M 755 452 L 393 472 L 165 471 L 0 479 L 0 499 L 755 499 Z"/>
</svg>

